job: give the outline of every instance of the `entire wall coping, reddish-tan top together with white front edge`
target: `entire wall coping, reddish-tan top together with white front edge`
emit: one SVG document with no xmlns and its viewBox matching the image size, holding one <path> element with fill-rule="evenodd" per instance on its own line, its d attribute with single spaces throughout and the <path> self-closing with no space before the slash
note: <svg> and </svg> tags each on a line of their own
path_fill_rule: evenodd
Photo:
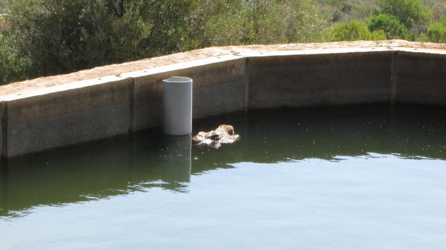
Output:
<svg viewBox="0 0 446 250">
<path fill-rule="evenodd" d="M 122 77 L 132 78 L 141 75 L 153 75 L 241 58 L 383 51 L 445 55 L 446 44 L 385 40 L 210 47 L 3 85 L 0 86 L 0 101 L 103 84 L 122 79 Z"/>
</svg>

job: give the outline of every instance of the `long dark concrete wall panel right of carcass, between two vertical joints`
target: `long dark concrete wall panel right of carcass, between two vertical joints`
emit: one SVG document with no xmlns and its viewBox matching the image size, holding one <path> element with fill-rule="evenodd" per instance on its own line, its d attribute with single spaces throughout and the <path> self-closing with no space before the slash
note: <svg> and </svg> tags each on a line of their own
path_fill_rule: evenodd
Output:
<svg viewBox="0 0 446 250">
<path fill-rule="evenodd" d="M 249 108 L 389 102 L 391 58 L 389 51 L 249 58 Z"/>
</svg>

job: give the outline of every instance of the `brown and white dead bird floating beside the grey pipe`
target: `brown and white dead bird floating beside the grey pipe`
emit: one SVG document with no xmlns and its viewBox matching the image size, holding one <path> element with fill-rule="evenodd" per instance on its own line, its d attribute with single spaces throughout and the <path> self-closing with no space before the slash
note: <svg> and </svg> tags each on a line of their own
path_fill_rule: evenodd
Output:
<svg viewBox="0 0 446 250">
<path fill-rule="evenodd" d="M 217 129 L 209 132 L 198 132 L 196 136 L 192 138 L 197 146 L 211 146 L 219 148 L 222 143 L 233 143 L 240 138 L 238 134 L 234 134 L 234 128 L 231 125 L 220 125 Z"/>
</svg>

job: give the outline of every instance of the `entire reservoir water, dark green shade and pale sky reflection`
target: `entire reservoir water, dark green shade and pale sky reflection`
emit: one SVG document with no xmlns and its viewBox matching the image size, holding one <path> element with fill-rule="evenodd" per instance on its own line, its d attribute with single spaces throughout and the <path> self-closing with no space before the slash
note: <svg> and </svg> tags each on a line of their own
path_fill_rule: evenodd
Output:
<svg viewBox="0 0 446 250">
<path fill-rule="evenodd" d="M 446 109 L 253 111 L 13 159 L 2 249 L 443 249 Z"/>
</svg>

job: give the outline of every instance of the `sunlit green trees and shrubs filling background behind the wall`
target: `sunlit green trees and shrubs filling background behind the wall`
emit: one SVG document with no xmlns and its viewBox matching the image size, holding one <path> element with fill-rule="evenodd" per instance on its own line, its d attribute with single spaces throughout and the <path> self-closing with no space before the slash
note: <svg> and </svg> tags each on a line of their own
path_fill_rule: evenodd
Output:
<svg viewBox="0 0 446 250">
<path fill-rule="evenodd" d="M 0 84 L 191 49 L 446 42 L 442 0 L 0 0 Z"/>
</svg>

